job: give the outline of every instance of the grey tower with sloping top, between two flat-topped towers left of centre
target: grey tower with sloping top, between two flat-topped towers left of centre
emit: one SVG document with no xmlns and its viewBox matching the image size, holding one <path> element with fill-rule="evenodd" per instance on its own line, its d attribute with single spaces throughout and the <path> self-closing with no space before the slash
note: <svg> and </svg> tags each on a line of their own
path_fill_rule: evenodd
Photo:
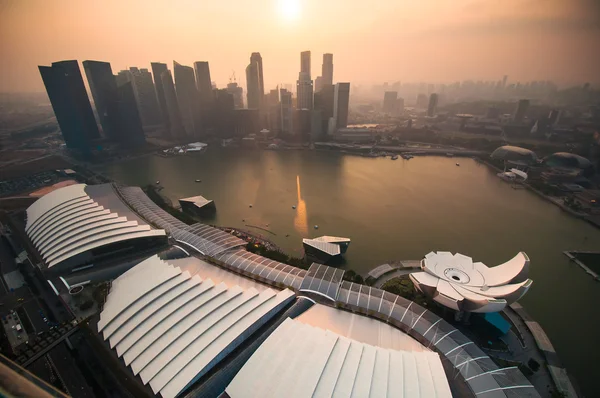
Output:
<svg viewBox="0 0 600 398">
<path fill-rule="evenodd" d="M 173 74 L 175 75 L 175 91 L 181 112 L 181 120 L 187 133 L 198 137 L 201 134 L 200 99 L 196 90 L 194 69 L 173 61 Z"/>
</svg>

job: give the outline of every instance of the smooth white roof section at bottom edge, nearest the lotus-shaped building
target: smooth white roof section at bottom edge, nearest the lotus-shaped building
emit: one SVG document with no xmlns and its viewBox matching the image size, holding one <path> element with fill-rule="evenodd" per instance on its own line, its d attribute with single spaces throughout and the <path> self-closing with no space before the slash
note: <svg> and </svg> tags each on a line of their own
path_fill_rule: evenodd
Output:
<svg viewBox="0 0 600 398">
<path fill-rule="evenodd" d="M 225 392 L 241 397 L 451 397 L 438 354 L 396 351 L 286 319 Z"/>
</svg>

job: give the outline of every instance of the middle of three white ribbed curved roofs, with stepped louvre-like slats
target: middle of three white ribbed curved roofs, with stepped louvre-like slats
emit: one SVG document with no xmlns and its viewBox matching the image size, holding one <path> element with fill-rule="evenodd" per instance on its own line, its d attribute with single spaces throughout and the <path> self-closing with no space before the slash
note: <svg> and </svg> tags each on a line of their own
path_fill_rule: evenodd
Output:
<svg viewBox="0 0 600 398">
<path fill-rule="evenodd" d="M 293 297 L 216 285 L 153 256 L 113 281 L 98 331 L 155 394 L 175 397 Z"/>
</svg>

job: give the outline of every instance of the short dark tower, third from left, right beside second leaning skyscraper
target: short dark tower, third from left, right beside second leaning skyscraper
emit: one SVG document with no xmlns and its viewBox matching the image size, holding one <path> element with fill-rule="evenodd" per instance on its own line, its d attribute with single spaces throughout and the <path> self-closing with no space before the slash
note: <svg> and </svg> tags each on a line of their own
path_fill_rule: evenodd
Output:
<svg viewBox="0 0 600 398">
<path fill-rule="evenodd" d="M 139 148 L 146 142 L 132 82 L 117 86 L 119 101 L 119 141 L 128 148 Z"/>
</svg>

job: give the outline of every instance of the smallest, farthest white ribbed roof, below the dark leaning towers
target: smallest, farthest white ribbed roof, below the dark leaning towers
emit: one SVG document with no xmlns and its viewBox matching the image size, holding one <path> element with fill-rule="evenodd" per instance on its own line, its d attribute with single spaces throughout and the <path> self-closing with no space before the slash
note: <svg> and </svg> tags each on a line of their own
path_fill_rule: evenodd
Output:
<svg viewBox="0 0 600 398">
<path fill-rule="evenodd" d="M 165 235 L 131 212 L 111 184 L 70 185 L 41 197 L 27 209 L 25 231 L 49 267 L 107 244 Z"/>
</svg>

